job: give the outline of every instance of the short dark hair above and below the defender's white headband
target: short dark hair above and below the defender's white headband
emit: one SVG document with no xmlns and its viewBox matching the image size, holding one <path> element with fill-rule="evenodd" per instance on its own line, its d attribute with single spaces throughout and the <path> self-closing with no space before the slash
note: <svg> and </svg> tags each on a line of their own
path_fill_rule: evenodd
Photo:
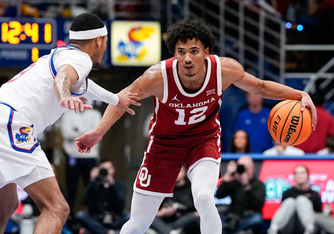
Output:
<svg viewBox="0 0 334 234">
<path fill-rule="evenodd" d="M 70 30 L 77 32 L 77 31 L 93 30 L 103 27 L 104 23 L 97 15 L 93 13 L 82 13 L 74 18 L 74 20 L 71 23 Z M 69 43 L 85 45 L 92 40 L 93 39 L 87 39 L 87 40 L 70 39 Z"/>
</svg>

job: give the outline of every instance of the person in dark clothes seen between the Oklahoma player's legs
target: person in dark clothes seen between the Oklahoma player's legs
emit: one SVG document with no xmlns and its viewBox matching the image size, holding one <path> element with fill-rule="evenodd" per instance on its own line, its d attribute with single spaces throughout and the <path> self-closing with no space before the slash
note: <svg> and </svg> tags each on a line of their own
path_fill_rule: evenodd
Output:
<svg viewBox="0 0 334 234">
<path fill-rule="evenodd" d="M 172 198 L 165 198 L 151 228 L 159 234 L 199 233 L 199 215 L 191 193 L 187 170 L 182 166 L 177 177 Z M 174 231 L 173 231 L 174 230 Z"/>
</svg>

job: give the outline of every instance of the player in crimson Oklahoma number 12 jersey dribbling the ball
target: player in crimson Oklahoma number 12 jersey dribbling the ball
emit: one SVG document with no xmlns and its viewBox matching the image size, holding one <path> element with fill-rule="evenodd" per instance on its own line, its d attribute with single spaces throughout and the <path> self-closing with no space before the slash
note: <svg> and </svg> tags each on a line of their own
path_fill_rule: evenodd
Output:
<svg viewBox="0 0 334 234">
<path fill-rule="evenodd" d="M 124 89 L 142 99 L 153 96 L 154 112 L 148 147 L 134 184 L 131 218 L 121 234 L 148 229 L 163 198 L 173 196 L 183 163 L 201 233 L 222 232 L 214 202 L 221 160 L 218 111 L 222 92 L 232 83 L 263 98 L 300 100 L 302 111 L 310 108 L 315 128 L 316 110 L 307 93 L 260 80 L 244 72 L 235 60 L 210 55 L 214 42 L 214 35 L 203 22 L 177 22 L 168 29 L 166 41 L 175 57 L 150 67 Z M 97 128 L 76 138 L 78 151 L 90 152 L 123 113 L 109 105 Z"/>
</svg>

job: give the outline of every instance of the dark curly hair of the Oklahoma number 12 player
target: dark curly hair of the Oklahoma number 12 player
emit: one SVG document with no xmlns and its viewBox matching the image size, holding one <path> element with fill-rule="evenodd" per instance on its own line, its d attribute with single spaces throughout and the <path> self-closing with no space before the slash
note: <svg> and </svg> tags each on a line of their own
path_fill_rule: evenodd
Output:
<svg viewBox="0 0 334 234">
<path fill-rule="evenodd" d="M 216 40 L 211 28 L 203 21 L 189 18 L 172 24 L 167 29 L 167 34 L 166 45 L 171 54 L 174 54 L 175 45 L 179 40 L 185 43 L 188 39 L 196 38 L 202 42 L 204 49 L 209 48 L 209 52 L 213 51 Z"/>
</svg>

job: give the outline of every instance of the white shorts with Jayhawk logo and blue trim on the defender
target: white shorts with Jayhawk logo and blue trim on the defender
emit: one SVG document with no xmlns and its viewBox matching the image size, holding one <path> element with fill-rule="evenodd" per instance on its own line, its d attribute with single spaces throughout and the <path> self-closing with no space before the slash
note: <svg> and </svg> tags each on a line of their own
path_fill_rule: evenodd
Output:
<svg viewBox="0 0 334 234">
<path fill-rule="evenodd" d="M 33 124 L 9 105 L 0 103 L 0 189 L 13 182 L 24 189 L 51 176 L 54 172 L 37 142 Z"/>
</svg>

